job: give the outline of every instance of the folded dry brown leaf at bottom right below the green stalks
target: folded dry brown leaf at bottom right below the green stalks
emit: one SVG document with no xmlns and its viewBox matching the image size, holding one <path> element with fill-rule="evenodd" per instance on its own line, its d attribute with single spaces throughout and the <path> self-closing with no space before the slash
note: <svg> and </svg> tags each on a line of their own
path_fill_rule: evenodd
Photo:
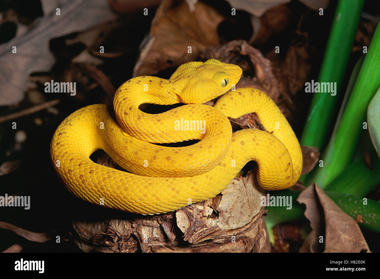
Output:
<svg viewBox="0 0 380 279">
<path fill-rule="evenodd" d="M 313 229 L 300 252 L 318 252 L 323 243 L 325 252 L 369 251 L 357 222 L 344 213 L 315 183 L 305 189 L 297 201 L 306 205 L 304 214 Z M 322 239 L 323 242 L 320 243 Z"/>
</svg>

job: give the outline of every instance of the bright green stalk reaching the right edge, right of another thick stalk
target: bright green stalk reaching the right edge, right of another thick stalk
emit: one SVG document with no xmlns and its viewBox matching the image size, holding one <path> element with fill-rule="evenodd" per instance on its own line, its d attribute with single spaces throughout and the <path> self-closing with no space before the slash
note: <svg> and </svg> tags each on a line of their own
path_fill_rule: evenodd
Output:
<svg viewBox="0 0 380 279">
<path fill-rule="evenodd" d="M 322 189 L 331 183 L 353 159 L 367 107 L 380 86 L 380 25 L 377 26 L 335 137 L 332 137 L 318 167 L 307 184 L 315 182 Z"/>
</svg>

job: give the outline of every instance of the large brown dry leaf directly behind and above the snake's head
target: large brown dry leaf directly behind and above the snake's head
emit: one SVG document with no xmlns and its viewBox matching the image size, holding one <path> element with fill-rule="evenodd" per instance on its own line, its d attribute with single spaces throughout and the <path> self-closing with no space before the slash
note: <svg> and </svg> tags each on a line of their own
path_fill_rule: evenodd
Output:
<svg viewBox="0 0 380 279">
<path fill-rule="evenodd" d="M 195 4 L 192 13 L 185 1 L 164 0 L 152 20 L 149 38 L 133 69 L 133 76 L 148 76 L 194 61 L 200 52 L 219 44 L 218 25 L 223 21 L 214 8 Z M 191 47 L 191 53 L 188 53 Z"/>
</svg>

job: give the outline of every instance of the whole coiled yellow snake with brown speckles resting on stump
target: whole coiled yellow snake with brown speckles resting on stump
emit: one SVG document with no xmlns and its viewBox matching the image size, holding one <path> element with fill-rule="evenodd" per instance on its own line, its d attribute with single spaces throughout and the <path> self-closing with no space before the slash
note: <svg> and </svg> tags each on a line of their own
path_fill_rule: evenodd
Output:
<svg viewBox="0 0 380 279">
<path fill-rule="evenodd" d="M 113 110 L 104 104 L 83 107 L 59 125 L 50 147 L 58 176 L 87 202 L 140 214 L 210 199 L 251 160 L 258 164 L 257 179 L 264 189 L 292 186 L 302 169 L 298 140 L 265 93 L 229 91 L 241 74 L 239 66 L 210 59 L 183 64 L 170 79 L 128 80 L 116 91 Z M 214 107 L 202 104 L 222 94 Z M 187 105 L 148 114 L 139 110 L 144 103 Z M 251 112 L 268 132 L 232 134 L 227 116 Z M 199 142 L 185 147 L 154 144 L 191 139 Z M 92 162 L 89 157 L 98 149 L 128 172 Z"/>
</svg>

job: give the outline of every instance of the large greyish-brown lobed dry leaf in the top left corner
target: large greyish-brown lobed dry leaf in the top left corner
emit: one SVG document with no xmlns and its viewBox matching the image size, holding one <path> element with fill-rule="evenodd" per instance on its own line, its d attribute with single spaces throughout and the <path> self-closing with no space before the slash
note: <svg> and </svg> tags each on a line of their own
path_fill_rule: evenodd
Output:
<svg viewBox="0 0 380 279">
<path fill-rule="evenodd" d="M 12 105 L 24 98 L 27 77 L 48 71 L 55 59 L 49 40 L 74 31 L 86 30 L 116 18 L 103 0 L 42 1 L 44 14 L 30 32 L 0 45 L 0 105 Z M 55 9 L 60 8 L 60 16 Z M 16 46 L 17 53 L 12 53 Z"/>
</svg>

